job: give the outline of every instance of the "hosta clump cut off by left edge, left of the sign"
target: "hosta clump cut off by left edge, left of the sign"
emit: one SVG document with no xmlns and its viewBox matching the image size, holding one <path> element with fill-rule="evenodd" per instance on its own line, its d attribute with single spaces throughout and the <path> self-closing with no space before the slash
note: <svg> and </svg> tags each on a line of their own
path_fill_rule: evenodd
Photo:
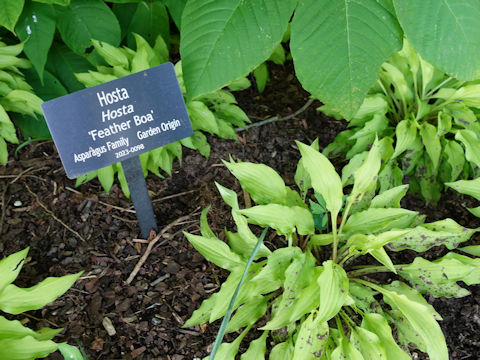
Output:
<svg viewBox="0 0 480 360">
<path fill-rule="evenodd" d="M 23 43 L 7 46 L 0 41 L 0 164 L 8 160 L 7 141 L 18 144 L 15 126 L 7 112 L 34 116 L 41 114 L 42 100 L 33 94 L 20 69 L 31 67 L 28 60 L 19 58 Z"/>
</svg>

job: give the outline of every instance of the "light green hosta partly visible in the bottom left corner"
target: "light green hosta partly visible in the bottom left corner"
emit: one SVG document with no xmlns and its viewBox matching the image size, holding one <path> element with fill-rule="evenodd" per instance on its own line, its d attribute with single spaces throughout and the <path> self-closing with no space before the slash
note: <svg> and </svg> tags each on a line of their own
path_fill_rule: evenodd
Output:
<svg viewBox="0 0 480 360">
<path fill-rule="evenodd" d="M 49 277 L 35 286 L 20 288 L 12 284 L 17 278 L 28 254 L 28 248 L 0 260 L 0 310 L 18 315 L 38 310 L 65 293 L 81 275 Z M 0 358 L 30 360 L 45 357 L 59 349 L 75 354 L 68 344 L 57 344 L 52 339 L 63 329 L 42 328 L 34 331 L 18 320 L 0 315 Z"/>
</svg>

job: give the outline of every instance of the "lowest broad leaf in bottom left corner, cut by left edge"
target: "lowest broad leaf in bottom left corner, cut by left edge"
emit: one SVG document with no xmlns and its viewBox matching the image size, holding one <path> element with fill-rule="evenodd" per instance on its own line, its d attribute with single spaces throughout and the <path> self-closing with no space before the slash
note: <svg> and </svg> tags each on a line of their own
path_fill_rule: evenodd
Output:
<svg viewBox="0 0 480 360">
<path fill-rule="evenodd" d="M 32 336 L 0 339 L 0 359 L 34 360 L 51 354 L 57 348 L 58 345 L 51 340 L 39 341 Z"/>
</svg>

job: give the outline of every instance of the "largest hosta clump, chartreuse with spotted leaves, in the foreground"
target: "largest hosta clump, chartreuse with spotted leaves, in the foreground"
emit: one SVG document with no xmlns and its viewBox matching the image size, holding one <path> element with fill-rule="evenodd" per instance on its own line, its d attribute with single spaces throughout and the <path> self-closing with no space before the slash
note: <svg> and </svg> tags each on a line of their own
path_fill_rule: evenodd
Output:
<svg viewBox="0 0 480 360">
<path fill-rule="evenodd" d="M 225 314 L 257 242 L 249 227 L 255 224 L 274 229 L 284 246 L 263 245 L 258 251 L 227 327 L 231 333 L 243 330 L 222 344 L 218 359 L 234 359 L 245 334 L 257 328 L 263 333 L 241 359 L 264 358 L 267 344 L 273 344 L 269 359 L 410 359 L 409 351 L 416 348 L 432 360 L 447 360 L 441 317 L 422 294 L 468 295 L 457 282 L 479 283 L 480 260 L 448 252 L 435 261 L 418 256 L 394 264 L 387 249 L 453 250 L 476 230 L 452 219 L 424 223 L 417 212 L 400 207 L 407 185 L 370 197 L 381 167 L 377 140 L 354 172 L 349 191 L 318 145 L 298 146 L 302 158 L 295 179 L 303 195 L 265 165 L 225 163 L 256 205 L 241 209 L 236 193 L 217 184 L 232 208 L 236 231 L 226 231 L 228 243 L 221 241 L 204 212 L 202 235 L 186 234 L 230 275 L 185 326 Z M 382 284 L 375 278 L 379 272 L 391 272 L 395 280 Z"/>
</svg>

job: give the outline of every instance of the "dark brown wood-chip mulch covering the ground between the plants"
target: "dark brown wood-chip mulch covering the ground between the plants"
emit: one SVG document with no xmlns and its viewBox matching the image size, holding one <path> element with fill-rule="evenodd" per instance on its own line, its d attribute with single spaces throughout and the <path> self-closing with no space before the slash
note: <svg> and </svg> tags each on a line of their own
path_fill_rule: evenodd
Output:
<svg viewBox="0 0 480 360">
<path fill-rule="evenodd" d="M 254 122 L 289 117 L 309 101 L 291 63 L 272 65 L 270 70 L 271 81 L 263 94 L 254 86 L 235 93 Z M 323 148 L 346 127 L 344 121 L 317 112 L 319 105 L 315 101 L 296 116 L 239 132 L 238 141 L 209 137 L 208 160 L 185 149 L 182 164 L 175 163 L 172 176 L 150 175 L 147 186 L 158 225 L 167 228 L 130 283 L 127 279 L 147 244 L 139 240 L 131 201 L 120 188 L 114 185 L 105 194 L 97 180 L 76 188 L 75 181 L 66 178 L 51 141 L 21 149 L 18 160 L 13 159 L 11 147 L 11 160 L 0 167 L 0 257 L 30 246 L 17 280 L 20 286 L 84 270 L 80 280 L 55 302 L 11 318 L 34 329 L 64 328 L 56 341 L 79 344 L 90 360 L 207 356 L 220 320 L 192 328 L 182 325 L 219 289 L 227 273 L 205 261 L 182 232 L 199 234 L 199 211 L 208 205 L 208 221 L 220 238 L 225 238 L 225 228 L 233 229 L 229 208 L 215 187 L 218 182 L 232 188 L 244 201 L 238 182 L 222 163 L 229 156 L 267 164 L 287 185 L 294 186 L 299 159 L 294 141 L 311 143 L 318 138 Z M 342 160 L 336 161 L 340 169 Z M 427 221 L 451 217 L 467 227 L 480 225 L 465 210 L 465 205 L 474 204 L 452 191 L 447 191 L 437 206 L 425 206 L 412 197 L 403 205 L 426 214 Z M 278 239 L 266 243 L 272 248 L 279 246 Z M 479 243 L 479 236 L 470 243 Z M 435 258 L 443 252 L 433 249 L 425 256 Z M 411 262 L 412 255 L 402 252 L 395 260 Z M 480 359 L 480 286 L 469 290 L 472 294 L 461 299 L 427 297 L 443 317 L 440 324 L 452 359 Z M 49 358 L 61 356 L 57 353 Z M 412 353 L 412 358 L 426 359 L 421 353 Z"/>
</svg>

